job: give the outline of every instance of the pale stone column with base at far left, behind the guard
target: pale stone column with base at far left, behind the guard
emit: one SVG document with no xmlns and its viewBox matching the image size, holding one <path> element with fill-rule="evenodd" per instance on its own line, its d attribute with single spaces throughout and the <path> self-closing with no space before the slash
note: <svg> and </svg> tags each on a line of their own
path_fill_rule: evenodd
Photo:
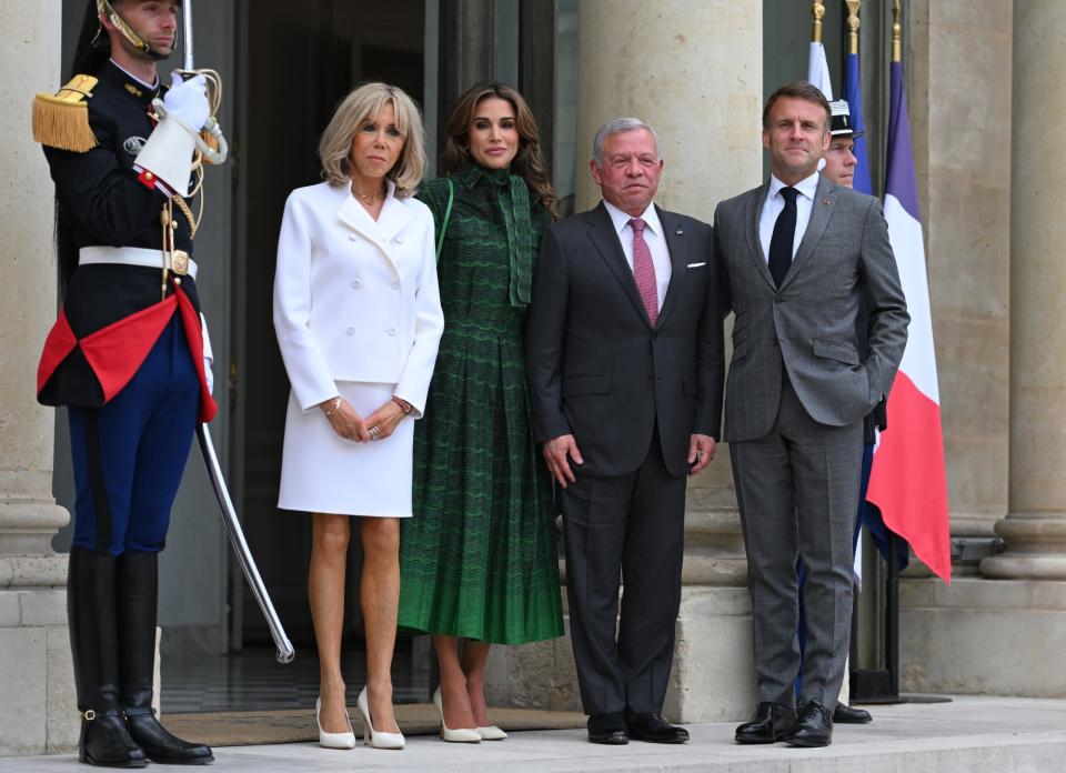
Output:
<svg viewBox="0 0 1066 773">
<path fill-rule="evenodd" d="M 41 344 L 56 317 L 53 192 L 30 135 L 36 90 L 58 88 L 60 3 L 0 6 L 0 756 L 77 741 L 67 638 L 66 556 L 51 539 L 68 513 L 52 498 L 51 409 L 37 404 Z"/>
</svg>

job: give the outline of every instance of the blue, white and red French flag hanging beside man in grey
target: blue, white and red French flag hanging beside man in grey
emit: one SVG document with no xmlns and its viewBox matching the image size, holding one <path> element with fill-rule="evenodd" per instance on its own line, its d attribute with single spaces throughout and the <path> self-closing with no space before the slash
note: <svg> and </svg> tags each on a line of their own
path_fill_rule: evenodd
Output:
<svg viewBox="0 0 1066 773">
<path fill-rule="evenodd" d="M 866 499 L 937 576 L 952 579 L 941 393 L 933 350 L 911 120 L 903 63 L 891 64 L 885 220 L 911 313 L 907 347 L 888 395 L 892 428 L 881 436 Z"/>
</svg>

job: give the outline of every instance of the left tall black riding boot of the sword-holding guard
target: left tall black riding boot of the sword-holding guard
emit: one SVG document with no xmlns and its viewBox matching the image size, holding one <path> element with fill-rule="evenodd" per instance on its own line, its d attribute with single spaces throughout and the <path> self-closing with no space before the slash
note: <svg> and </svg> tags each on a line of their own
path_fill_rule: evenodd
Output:
<svg viewBox="0 0 1066 773">
<path fill-rule="evenodd" d="M 67 619 L 81 712 L 78 759 L 104 767 L 144 767 L 119 705 L 119 642 L 114 583 L 118 560 L 83 548 L 70 551 Z"/>
</svg>

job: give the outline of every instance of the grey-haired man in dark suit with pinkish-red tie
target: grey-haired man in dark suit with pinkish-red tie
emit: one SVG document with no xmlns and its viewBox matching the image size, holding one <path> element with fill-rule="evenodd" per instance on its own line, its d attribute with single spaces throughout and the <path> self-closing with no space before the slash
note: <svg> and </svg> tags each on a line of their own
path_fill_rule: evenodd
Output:
<svg viewBox="0 0 1066 773">
<path fill-rule="evenodd" d="M 604 124 L 591 168 L 603 201 L 541 241 L 526 319 L 534 433 L 559 483 L 589 740 L 683 743 L 660 712 L 686 476 L 714 456 L 721 420 L 713 240 L 653 203 L 663 161 L 642 121 Z"/>
</svg>

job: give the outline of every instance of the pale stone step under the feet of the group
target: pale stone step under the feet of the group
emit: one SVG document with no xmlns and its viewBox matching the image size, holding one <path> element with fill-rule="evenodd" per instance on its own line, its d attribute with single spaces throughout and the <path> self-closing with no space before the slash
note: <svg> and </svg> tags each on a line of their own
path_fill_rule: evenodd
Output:
<svg viewBox="0 0 1066 773">
<path fill-rule="evenodd" d="M 409 739 L 401 753 L 349 753 L 312 743 L 215 750 L 215 771 L 710 771 L 712 773 L 1036 773 L 1066 770 L 1066 701 L 957 697 L 951 703 L 871 706 L 874 723 L 841 725 L 826 749 L 738 746 L 733 723 L 690 725 L 682 746 L 596 746 L 581 730 L 516 732 L 504 742 Z M 73 770 L 70 755 L 0 760 L 2 773 Z"/>
</svg>

